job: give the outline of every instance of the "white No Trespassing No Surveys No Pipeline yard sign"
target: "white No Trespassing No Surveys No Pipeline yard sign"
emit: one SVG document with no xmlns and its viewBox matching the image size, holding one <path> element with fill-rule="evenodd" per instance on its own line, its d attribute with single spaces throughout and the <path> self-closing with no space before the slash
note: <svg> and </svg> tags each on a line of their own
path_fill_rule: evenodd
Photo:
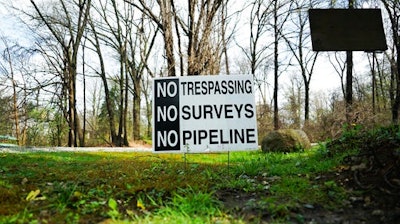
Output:
<svg viewBox="0 0 400 224">
<path fill-rule="evenodd" d="M 251 75 L 154 79 L 154 152 L 199 153 L 257 147 Z"/>
</svg>

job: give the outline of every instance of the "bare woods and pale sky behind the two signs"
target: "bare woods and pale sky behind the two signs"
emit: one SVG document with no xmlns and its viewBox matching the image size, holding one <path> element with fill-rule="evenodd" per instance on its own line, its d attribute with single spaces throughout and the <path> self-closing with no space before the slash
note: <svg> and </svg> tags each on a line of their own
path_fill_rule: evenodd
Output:
<svg viewBox="0 0 400 224">
<path fill-rule="evenodd" d="M 0 6 L 18 21 L 10 32 L 23 27 L 25 38 L 0 34 L 0 135 L 15 136 L 22 146 L 150 140 L 151 80 L 159 76 L 252 75 L 259 138 L 296 128 L 318 142 L 339 136 L 346 125 L 398 124 L 398 1 L 31 0 Z M 382 9 L 388 50 L 360 54 L 366 68 L 349 77 L 346 52 L 312 51 L 308 9 L 366 6 Z M 339 88 L 311 94 L 321 61 L 337 73 Z"/>
</svg>

